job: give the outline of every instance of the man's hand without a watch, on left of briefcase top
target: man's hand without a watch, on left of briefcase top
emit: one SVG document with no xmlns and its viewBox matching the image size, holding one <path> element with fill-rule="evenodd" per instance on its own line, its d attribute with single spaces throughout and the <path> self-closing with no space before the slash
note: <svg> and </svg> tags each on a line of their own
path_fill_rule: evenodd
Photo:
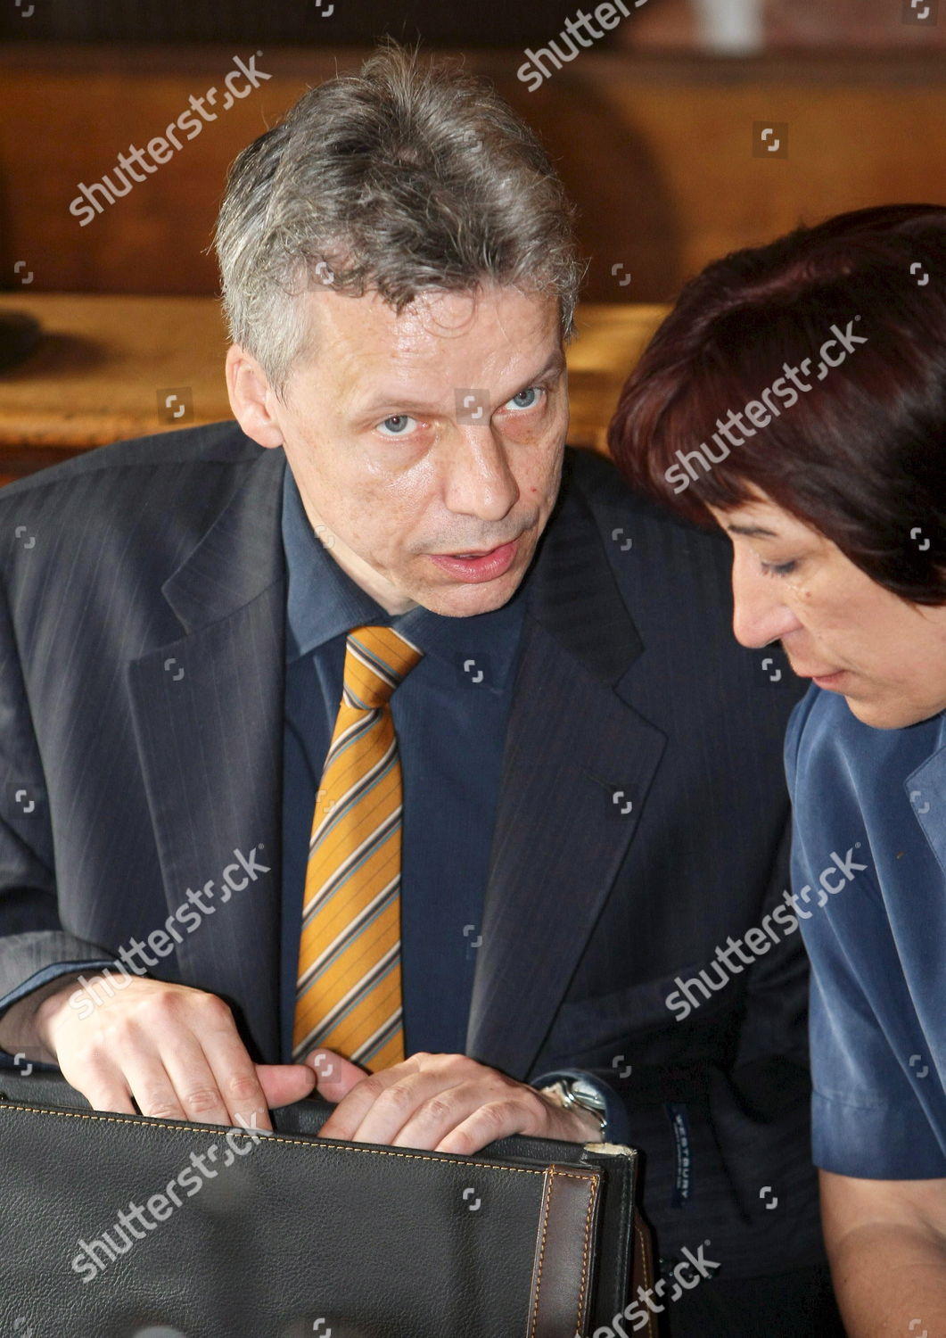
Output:
<svg viewBox="0 0 946 1338">
<path fill-rule="evenodd" d="M 269 1129 L 269 1108 L 312 1092 L 302 1064 L 253 1064 L 215 994 L 128 977 L 96 1002 L 74 978 L 55 985 L 15 1004 L 9 1025 L 27 1058 L 58 1064 L 96 1111 L 134 1115 L 134 1097 L 142 1115 Z"/>
</svg>

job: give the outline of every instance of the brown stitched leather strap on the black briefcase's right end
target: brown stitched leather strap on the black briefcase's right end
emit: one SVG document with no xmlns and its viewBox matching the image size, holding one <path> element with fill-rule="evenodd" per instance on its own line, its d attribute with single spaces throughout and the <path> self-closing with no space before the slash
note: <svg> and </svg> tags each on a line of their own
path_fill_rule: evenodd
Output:
<svg viewBox="0 0 946 1338">
<path fill-rule="evenodd" d="M 598 1171 L 546 1168 L 526 1338 L 585 1331 L 599 1188 Z"/>
</svg>

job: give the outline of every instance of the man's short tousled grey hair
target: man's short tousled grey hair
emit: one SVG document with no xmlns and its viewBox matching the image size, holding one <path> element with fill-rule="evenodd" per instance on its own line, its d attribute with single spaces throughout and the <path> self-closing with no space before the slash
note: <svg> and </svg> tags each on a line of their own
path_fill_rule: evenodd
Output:
<svg viewBox="0 0 946 1338">
<path fill-rule="evenodd" d="M 512 285 L 557 297 L 567 340 L 583 273 L 534 131 L 490 84 L 395 43 L 244 149 L 215 241 L 230 339 L 282 399 L 320 284 L 399 313 L 424 290 Z"/>
</svg>

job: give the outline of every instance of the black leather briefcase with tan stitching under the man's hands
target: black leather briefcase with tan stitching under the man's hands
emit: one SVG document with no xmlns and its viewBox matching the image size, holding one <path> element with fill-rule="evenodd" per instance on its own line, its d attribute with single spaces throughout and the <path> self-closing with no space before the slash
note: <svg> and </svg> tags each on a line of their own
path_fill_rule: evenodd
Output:
<svg viewBox="0 0 946 1338">
<path fill-rule="evenodd" d="M 630 1148 L 318 1139 L 332 1109 L 254 1133 L 96 1113 L 56 1073 L 0 1072 L 0 1331 L 585 1338 L 652 1283 Z"/>
</svg>

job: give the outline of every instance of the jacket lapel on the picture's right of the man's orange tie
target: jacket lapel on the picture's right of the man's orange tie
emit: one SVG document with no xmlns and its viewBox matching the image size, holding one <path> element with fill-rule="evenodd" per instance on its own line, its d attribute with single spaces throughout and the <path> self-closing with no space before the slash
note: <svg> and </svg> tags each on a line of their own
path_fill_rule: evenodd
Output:
<svg viewBox="0 0 946 1338">
<path fill-rule="evenodd" d="M 503 756 L 467 1053 L 525 1078 L 634 836 L 665 736 L 620 694 L 644 645 L 586 503 L 542 538 Z"/>
</svg>

